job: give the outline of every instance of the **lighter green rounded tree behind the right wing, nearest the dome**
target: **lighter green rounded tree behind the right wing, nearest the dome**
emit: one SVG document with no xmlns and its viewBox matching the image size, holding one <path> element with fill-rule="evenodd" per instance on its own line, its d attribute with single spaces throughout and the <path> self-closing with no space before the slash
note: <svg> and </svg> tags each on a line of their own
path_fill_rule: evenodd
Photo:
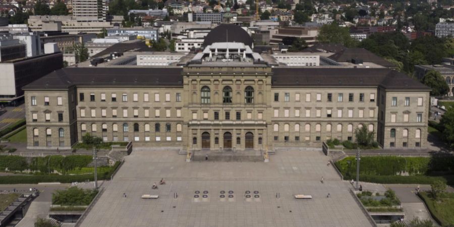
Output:
<svg viewBox="0 0 454 227">
<path fill-rule="evenodd" d="M 349 28 L 339 27 L 336 23 L 323 25 L 318 31 L 317 41 L 320 43 L 342 44 L 346 47 L 355 46 Z"/>
</svg>

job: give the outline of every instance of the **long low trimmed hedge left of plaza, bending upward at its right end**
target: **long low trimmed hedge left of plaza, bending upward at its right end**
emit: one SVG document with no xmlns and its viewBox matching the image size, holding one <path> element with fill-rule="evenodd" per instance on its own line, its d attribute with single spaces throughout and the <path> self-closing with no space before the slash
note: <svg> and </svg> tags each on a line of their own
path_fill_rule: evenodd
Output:
<svg viewBox="0 0 454 227">
<path fill-rule="evenodd" d="M 120 165 L 116 162 L 109 172 L 98 173 L 98 180 L 110 180 L 110 176 Z M 60 182 L 60 183 L 73 183 L 94 181 L 93 174 L 85 175 L 19 175 L 19 176 L 0 176 L 0 184 L 38 184 L 41 182 Z"/>
</svg>

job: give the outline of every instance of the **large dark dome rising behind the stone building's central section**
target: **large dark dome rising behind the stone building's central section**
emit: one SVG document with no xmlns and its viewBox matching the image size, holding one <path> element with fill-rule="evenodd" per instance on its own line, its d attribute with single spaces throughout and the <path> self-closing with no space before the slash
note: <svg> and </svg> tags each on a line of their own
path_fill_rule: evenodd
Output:
<svg viewBox="0 0 454 227">
<path fill-rule="evenodd" d="M 208 46 L 214 42 L 242 42 L 252 46 L 252 37 L 240 26 L 234 24 L 221 24 L 211 30 L 203 41 L 203 46 Z"/>
</svg>

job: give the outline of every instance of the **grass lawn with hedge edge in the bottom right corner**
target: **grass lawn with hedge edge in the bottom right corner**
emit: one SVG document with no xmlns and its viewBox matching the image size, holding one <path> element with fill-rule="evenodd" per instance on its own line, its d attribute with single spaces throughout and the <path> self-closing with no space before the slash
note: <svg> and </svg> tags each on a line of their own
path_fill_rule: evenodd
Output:
<svg viewBox="0 0 454 227">
<path fill-rule="evenodd" d="M 454 193 L 445 193 L 440 201 L 432 199 L 427 192 L 420 193 L 429 212 L 442 226 L 454 225 Z"/>
</svg>

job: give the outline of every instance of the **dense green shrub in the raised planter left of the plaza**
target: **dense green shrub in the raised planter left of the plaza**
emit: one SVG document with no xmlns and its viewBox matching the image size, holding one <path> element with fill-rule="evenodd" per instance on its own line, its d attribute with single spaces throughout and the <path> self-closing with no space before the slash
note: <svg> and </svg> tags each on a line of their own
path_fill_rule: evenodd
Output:
<svg viewBox="0 0 454 227">
<path fill-rule="evenodd" d="M 70 187 L 66 190 L 55 190 L 52 193 L 52 204 L 62 206 L 88 206 L 98 191 Z"/>
</svg>

